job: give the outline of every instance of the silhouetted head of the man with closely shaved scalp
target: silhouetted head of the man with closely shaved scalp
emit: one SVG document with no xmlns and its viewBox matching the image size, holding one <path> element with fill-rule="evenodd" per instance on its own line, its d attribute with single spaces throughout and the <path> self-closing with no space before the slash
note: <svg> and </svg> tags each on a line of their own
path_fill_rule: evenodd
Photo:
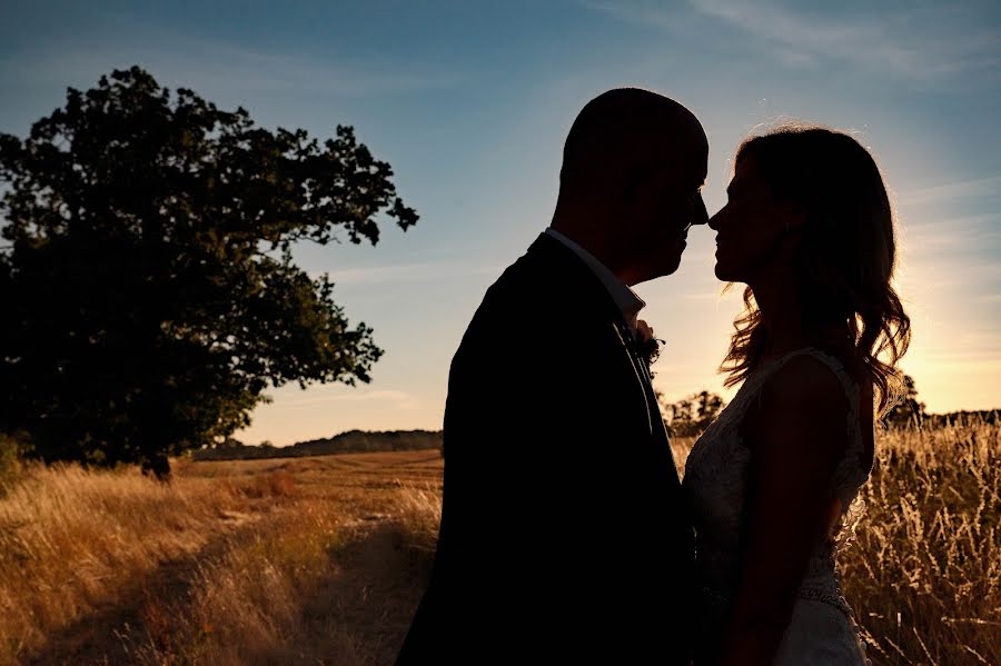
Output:
<svg viewBox="0 0 1001 666">
<path fill-rule="evenodd" d="M 566 138 L 552 227 L 628 285 L 670 275 L 688 227 L 706 221 L 707 159 L 702 125 L 682 105 L 640 88 L 604 92 Z"/>
</svg>

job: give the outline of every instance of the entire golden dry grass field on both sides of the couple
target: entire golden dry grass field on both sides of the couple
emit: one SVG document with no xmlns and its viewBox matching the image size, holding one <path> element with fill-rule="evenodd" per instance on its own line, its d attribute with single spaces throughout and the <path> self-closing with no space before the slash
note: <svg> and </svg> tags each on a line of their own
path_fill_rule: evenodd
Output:
<svg viewBox="0 0 1001 666">
<path fill-rule="evenodd" d="M 1001 663 L 1001 427 L 879 451 L 841 555 L 870 656 Z M 392 664 L 440 474 L 437 451 L 181 463 L 170 486 L 31 468 L 0 499 L 0 664 Z"/>
</svg>

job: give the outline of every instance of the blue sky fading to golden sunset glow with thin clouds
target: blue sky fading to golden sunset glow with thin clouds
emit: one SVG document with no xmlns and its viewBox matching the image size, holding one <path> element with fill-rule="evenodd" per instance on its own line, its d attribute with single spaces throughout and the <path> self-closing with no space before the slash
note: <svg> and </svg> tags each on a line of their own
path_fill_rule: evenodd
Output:
<svg viewBox="0 0 1001 666">
<path fill-rule="evenodd" d="M 552 1 L 89 2 L 0 0 L 0 131 L 24 136 L 67 87 L 139 64 L 262 127 L 320 139 L 338 123 L 388 161 L 420 221 L 376 247 L 298 246 L 386 351 L 369 385 L 298 385 L 236 436 L 288 445 L 350 429 L 438 429 L 448 366 L 486 288 L 548 226 L 579 109 L 640 86 L 690 108 L 710 140 L 704 198 L 733 151 L 795 119 L 850 131 L 898 215 L 902 369 L 930 411 L 1001 408 L 1001 4 Z M 740 289 L 721 296 L 712 230 L 678 271 L 640 285 L 666 341 L 668 399 L 707 389 Z M 542 338 L 573 335 L 559 321 Z M 581 362 L 586 362 L 582 359 Z M 498 414 L 497 418 L 504 418 Z"/>
</svg>

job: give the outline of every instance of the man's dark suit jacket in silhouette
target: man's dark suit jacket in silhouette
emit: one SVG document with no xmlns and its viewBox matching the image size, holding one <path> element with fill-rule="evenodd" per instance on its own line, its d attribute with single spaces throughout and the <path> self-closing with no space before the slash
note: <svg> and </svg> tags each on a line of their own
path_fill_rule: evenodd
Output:
<svg viewBox="0 0 1001 666">
<path fill-rule="evenodd" d="M 542 235 L 452 361 L 442 527 L 397 664 L 687 659 L 694 539 L 622 312 Z"/>
</svg>

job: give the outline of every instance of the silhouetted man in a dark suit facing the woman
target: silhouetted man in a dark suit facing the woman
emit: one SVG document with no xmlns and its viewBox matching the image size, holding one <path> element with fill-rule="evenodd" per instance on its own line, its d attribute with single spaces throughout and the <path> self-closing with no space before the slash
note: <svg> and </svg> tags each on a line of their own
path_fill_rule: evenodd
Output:
<svg viewBox="0 0 1001 666">
<path fill-rule="evenodd" d="M 687 663 L 693 534 L 631 287 L 705 223 L 707 153 L 651 91 L 577 116 L 551 227 L 452 362 L 438 548 L 397 664 Z"/>
</svg>

